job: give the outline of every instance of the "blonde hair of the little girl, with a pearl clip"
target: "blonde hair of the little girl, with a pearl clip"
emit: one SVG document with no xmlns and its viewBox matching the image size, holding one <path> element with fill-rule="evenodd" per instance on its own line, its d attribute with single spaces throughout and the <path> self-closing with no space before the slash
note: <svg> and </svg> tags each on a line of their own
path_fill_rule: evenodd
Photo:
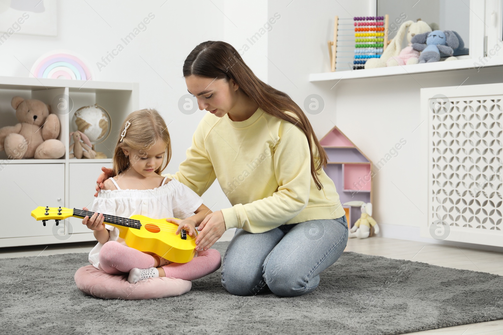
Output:
<svg viewBox="0 0 503 335">
<path fill-rule="evenodd" d="M 127 122 L 130 122 L 131 125 L 128 127 L 126 135 L 122 137 L 121 141 L 121 134 Z M 171 140 L 166 123 L 158 111 L 150 108 L 133 111 L 122 123 L 120 132 L 121 134 L 117 138 L 113 158 L 115 175 L 129 168 L 129 158 L 124 154 L 123 149 L 139 150 L 140 152 L 147 151 L 158 140 L 166 145 L 162 164 L 155 170 L 155 173 L 160 175 L 171 160 Z M 131 157 L 131 159 L 139 158 Z"/>
</svg>

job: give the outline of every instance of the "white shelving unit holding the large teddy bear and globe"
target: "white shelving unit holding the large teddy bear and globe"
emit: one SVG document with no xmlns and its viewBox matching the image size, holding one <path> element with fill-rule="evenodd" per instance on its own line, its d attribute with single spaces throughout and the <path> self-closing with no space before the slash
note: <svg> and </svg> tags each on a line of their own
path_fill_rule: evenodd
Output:
<svg viewBox="0 0 503 335">
<path fill-rule="evenodd" d="M 68 218 L 55 226 L 44 227 L 31 211 L 37 206 L 82 208 L 92 204 L 96 178 L 101 167 L 111 167 L 111 159 L 69 159 L 70 121 L 75 110 L 95 103 L 107 109 L 112 130 L 106 141 L 96 144 L 96 151 L 112 157 L 120 125 L 132 111 L 139 109 L 138 83 L 0 77 L 0 127 L 18 123 L 11 100 L 19 95 L 39 99 L 51 105 L 61 124 L 58 140 L 66 147 L 61 159 L 10 160 L 0 153 L 0 247 L 56 244 L 95 240 L 82 226 L 81 219 Z M 59 98 L 72 101 L 61 108 Z"/>
</svg>

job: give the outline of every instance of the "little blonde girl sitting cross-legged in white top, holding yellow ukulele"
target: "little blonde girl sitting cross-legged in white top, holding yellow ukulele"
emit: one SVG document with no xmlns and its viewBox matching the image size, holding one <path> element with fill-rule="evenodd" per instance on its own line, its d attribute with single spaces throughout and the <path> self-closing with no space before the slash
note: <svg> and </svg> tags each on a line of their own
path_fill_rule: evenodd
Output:
<svg viewBox="0 0 503 335">
<path fill-rule="evenodd" d="M 196 227 L 211 210 L 194 191 L 176 179 L 160 173 L 171 159 L 170 134 L 162 117 L 154 109 L 134 111 L 122 125 L 113 157 L 114 178 L 95 198 L 91 211 L 82 224 L 94 231 L 98 244 L 91 250 L 89 261 L 109 274 L 128 273 L 136 283 L 150 277 L 174 277 L 193 280 L 220 268 L 221 256 L 215 249 L 200 251 L 188 263 L 172 263 L 153 253 L 126 246 L 119 230 L 104 224 L 103 214 L 122 217 L 141 214 L 166 219 L 178 224 L 176 234 L 184 229 L 196 237 Z M 88 210 L 83 207 L 84 210 Z"/>
</svg>

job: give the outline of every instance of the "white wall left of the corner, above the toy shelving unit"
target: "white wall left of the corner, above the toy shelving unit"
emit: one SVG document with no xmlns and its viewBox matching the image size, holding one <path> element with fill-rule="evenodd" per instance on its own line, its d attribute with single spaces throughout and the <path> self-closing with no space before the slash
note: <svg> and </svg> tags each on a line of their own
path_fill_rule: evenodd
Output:
<svg viewBox="0 0 503 335">
<path fill-rule="evenodd" d="M 178 165 L 185 159 L 192 135 L 205 113 L 198 110 L 193 115 L 185 115 L 178 109 L 179 98 L 187 94 L 182 76 L 185 58 L 196 45 L 207 40 L 223 40 L 238 49 L 268 20 L 266 0 L 253 3 L 59 0 L 57 6 L 57 37 L 12 35 L 0 46 L 0 76 L 27 77 L 27 68 L 31 69 L 39 56 L 54 49 L 68 49 L 89 62 L 95 73 L 94 80 L 138 82 L 140 108 L 157 108 L 169 124 L 173 158 L 165 172 L 172 173 L 178 171 Z M 100 71 L 97 62 L 116 48 L 121 38 L 149 13 L 155 18 L 146 25 L 146 30 Z M 267 80 L 268 74 L 266 55 L 267 34 L 242 55 L 263 80 Z M 218 183 L 214 183 L 203 198 L 213 210 L 230 206 Z"/>
</svg>

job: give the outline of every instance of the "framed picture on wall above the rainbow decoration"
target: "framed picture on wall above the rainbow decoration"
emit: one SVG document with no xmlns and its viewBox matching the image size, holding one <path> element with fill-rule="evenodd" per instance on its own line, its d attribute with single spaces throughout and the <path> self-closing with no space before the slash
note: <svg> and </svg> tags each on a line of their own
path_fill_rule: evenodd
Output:
<svg viewBox="0 0 503 335">
<path fill-rule="evenodd" d="M 0 1 L 0 45 L 14 34 L 57 36 L 56 0 Z"/>
</svg>

